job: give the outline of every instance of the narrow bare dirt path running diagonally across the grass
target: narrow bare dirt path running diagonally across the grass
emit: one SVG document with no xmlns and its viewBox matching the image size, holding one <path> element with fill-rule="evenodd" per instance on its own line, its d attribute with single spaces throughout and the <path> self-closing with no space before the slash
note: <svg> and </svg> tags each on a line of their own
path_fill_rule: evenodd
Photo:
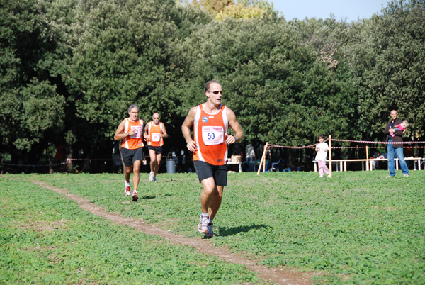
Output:
<svg viewBox="0 0 425 285">
<path fill-rule="evenodd" d="M 148 225 L 142 220 L 125 218 L 124 216 L 118 215 L 116 213 L 107 213 L 100 206 L 96 206 L 94 203 L 91 203 L 90 201 L 80 196 L 70 194 L 67 189 L 59 189 L 47 185 L 41 181 L 31 180 L 31 182 L 37 184 L 38 186 L 42 186 L 45 189 L 50 189 L 57 193 L 63 194 L 64 196 L 67 196 L 68 199 L 76 201 L 84 211 L 94 213 L 95 215 L 106 218 L 106 220 L 110 220 L 113 223 L 118 223 L 120 225 L 130 225 L 132 228 L 140 230 L 147 235 L 158 235 L 168 240 L 171 244 L 188 245 L 195 247 L 196 250 L 205 253 L 205 255 L 213 255 L 220 257 L 227 262 L 246 265 L 246 267 L 249 267 L 252 271 L 258 273 L 261 279 L 271 280 L 276 284 L 310 285 L 312 284 L 311 277 L 317 275 L 314 272 L 294 272 L 290 269 L 285 269 L 285 267 L 267 268 L 265 266 L 258 265 L 255 260 L 247 259 L 246 257 L 242 257 L 242 255 L 229 252 L 229 250 L 225 247 L 215 247 L 215 245 L 212 245 L 210 240 L 187 238 L 183 235 L 176 235 L 171 233 L 168 230 L 156 228 L 154 225 Z"/>
</svg>

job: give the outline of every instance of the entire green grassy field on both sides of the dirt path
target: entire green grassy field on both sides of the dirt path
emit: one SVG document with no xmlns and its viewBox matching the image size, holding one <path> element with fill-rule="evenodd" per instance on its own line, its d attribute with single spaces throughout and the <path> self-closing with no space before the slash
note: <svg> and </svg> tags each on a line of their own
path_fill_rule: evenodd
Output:
<svg viewBox="0 0 425 285">
<path fill-rule="evenodd" d="M 230 173 L 210 242 L 268 267 L 317 272 L 317 284 L 425 284 L 425 172 Z M 0 177 L 0 283 L 263 284 L 246 267 L 169 245 L 83 211 L 44 181 L 188 238 L 200 238 L 196 174 L 142 174 L 130 203 L 122 174 Z"/>
</svg>

